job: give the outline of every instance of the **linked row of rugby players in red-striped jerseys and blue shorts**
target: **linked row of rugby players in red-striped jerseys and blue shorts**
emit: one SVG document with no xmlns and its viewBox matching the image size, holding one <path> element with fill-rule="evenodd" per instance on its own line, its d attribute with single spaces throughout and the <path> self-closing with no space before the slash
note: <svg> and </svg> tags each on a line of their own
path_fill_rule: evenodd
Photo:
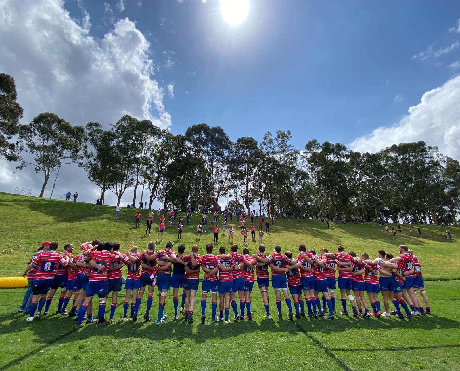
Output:
<svg viewBox="0 0 460 371">
<path fill-rule="evenodd" d="M 166 248 L 155 251 L 155 242 L 150 241 L 147 250 L 138 251 L 133 246 L 131 252 L 120 252 L 120 244 L 102 243 L 99 240 L 81 244 L 81 253 L 73 256 L 73 245 L 67 244 L 61 253 L 57 253 L 57 243 L 46 241 L 29 261 L 24 277 L 29 280 L 32 289 L 30 309 L 27 310 L 27 321 L 39 319 L 49 312 L 50 305 L 57 289 L 61 289 L 56 313 L 62 316 L 73 316 L 77 321 L 76 328 L 87 323 L 97 322 L 104 326 L 114 322 L 117 307 L 117 295 L 122 289 L 122 267 L 127 266 L 125 283 L 125 300 L 123 302 L 122 321 L 128 319 L 127 311 L 131 299 L 129 320 L 136 321 L 138 309 L 148 289 L 148 299 L 144 319 L 150 322 L 150 308 L 153 303 L 154 288 L 159 292 L 158 317 L 156 324 L 164 323 L 167 292 L 173 288 L 174 319 L 178 320 L 178 312 L 184 314 L 185 321 L 193 322 L 196 292 L 199 286 L 200 269 L 204 271 L 201 283 L 201 324 L 205 323 L 207 294 L 212 296 L 212 322 L 225 321 L 230 323 L 230 306 L 234 312 L 233 321 L 252 320 L 251 293 L 254 284 L 254 271 L 257 273 L 257 284 L 265 306 L 265 318 L 270 317 L 269 308 L 269 271 L 271 283 L 275 290 L 277 315 L 282 318 L 281 292 L 288 306 L 288 319 L 301 317 L 324 317 L 333 319 L 335 314 L 335 272 L 339 272 L 337 285 L 340 290 L 342 315 L 348 315 L 347 301 L 350 301 L 353 316 L 363 318 L 390 317 L 411 318 L 412 316 L 430 313 L 429 301 L 424 291 L 420 262 L 408 247 L 399 247 L 399 256 L 393 257 L 383 250 L 378 257 L 369 259 L 363 253 L 361 258 L 350 251 L 345 253 L 344 247 L 338 247 L 338 253 L 329 253 L 321 249 L 306 250 L 299 245 L 297 258 L 286 251 L 282 254 L 281 247 L 276 245 L 274 252 L 265 255 L 265 245 L 259 245 L 259 252 L 249 255 L 249 249 L 243 248 L 238 253 L 238 246 L 231 245 L 230 252 L 225 247 L 219 248 L 219 255 L 213 254 L 212 243 L 206 245 L 206 254 L 199 255 L 198 245 L 193 245 L 189 254 L 184 254 L 185 246 L 180 244 L 177 253 L 173 251 L 173 242 L 169 241 Z M 142 270 L 141 270 L 142 268 Z M 219 276 L 218 276 L 219 274 Z M 364 277 L 363 277 L 364 275 Z M 182 302 L 178 311 L 178 290 L 183 288 Z M 50 291 L 51 289 L 51 291 Z M 353 291 L 353 294 L 351 294 Z M 380 312 L 379 291 L 382 294 L 384 312 Z M 426 306 L 425 310 L 417 295 L 420 293 Z M 47 293 L 49 294 L 47 295 Z M 373 312 L 369 312 L 368 299 Z M 111 294 L 109 320 L 105 319 L 106 301 Z M 219 293 L 219 315 L 217 315 L 217 294 Z M 292 295 L 294 311 L 292 308 Z M 239 311 L 236 304 L 239 298 Z M 322 294 L 322 300 L 320 300 Z M 73 298 L 69 311 L 67 306 Z M 98 315 L 92 316 L 93 296 L 98 296 Z M 307 305 L 305 313 L 304 299 Z M 389 299 L 395 306 L 390 312 Z M 25 299 L 24 299 L 25 300 Z M 401 311 L 403 308 L 405 315 Z M 246 311 L 246 314 L 245 314 Z M 86 322 L 84 322 L 86 320 Z"/>
</svg>

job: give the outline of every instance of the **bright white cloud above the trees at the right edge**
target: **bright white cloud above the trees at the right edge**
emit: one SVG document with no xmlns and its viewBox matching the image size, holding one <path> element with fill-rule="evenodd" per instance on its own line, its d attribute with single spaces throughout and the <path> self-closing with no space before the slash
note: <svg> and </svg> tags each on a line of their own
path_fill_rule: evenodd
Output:
<svg viewBox="0 0 460 371">
<path fill-rule="evenodd" d="M 460 159 L 460 76 L 423 94 L 399 122 L 355 139 L 349 146 L 360 152 L 376 152 L 394 143 L 426 141 L 430 146 Z"/>
</svg>

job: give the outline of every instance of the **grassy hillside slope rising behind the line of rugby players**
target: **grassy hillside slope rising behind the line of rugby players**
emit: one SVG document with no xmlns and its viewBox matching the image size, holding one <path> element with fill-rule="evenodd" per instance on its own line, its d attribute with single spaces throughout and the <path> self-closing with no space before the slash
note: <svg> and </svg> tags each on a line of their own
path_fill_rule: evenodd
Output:
<svg viewBox="0 0 460 371">
<path fill-rule="evenodd" d="M 150 240 L 155 240 L 158 232 L 158 222 L 152 226 L 152 233 L 145 236 L 145 221 L 148 210 L 140 210 L 142 214 L 140 228 L 135 228 L 134 215 L 138 209 L 122 208 L 119 219 L 114 219 L 115 207 L 100 206 L 97 211 L 93 205 L 86 203 L 64 202 L 62 200 L 48 200 L 28 196 L 0 194 L 0 277 L 16 277 L 22 275 L 30 256 L 41 246 L 43 241 L 57 241 L 60 247 L 66 243 L 73 243 L 75 251 L 79 250 L 81 242 L 92 241 L 95 238 L 101 241 L 120 242 L 121 251 L 125 252 L 132 245 L 144 249 Z M 207 242 L 213 241 L 213 232 L 209 224 L 203 232 L 199 245 L 201 253 Z M 234 242 L 243 247 L 243 237 L 240 234 L 236 218 L 233 218 L 235 228 Z M 196 243 L 196 224 L 201 215 L 193 216 L 190 225 L 185 225 L 181 242 L 185 244 L 186 252 Z M 219 216 L 218 225 L 222 216 Z M 254 220 L 255 222 L 255 220 Z M 229 220 L 229 224 L 232 221 Z M 391 230 L 393 224 L 388 224 Z M 250 223 L 247 223 L 247 229 Z M 397 224 L 394 224 L 395 228 Z M 417 227 L 413 225 L 414 236 L 409 236 L 408 226 L 401 224 L 403 231 L 397 236 L 387 236 L 383 228 L 376 223 L 351 224 L 330 223 L 330 228 L 318 220 L 307 219 L 276 219 L 275 226 L 270 226 L 270 234 L 264 235 L 264 244 L 268 251 L 278 244 L 283 250 L 297 252 L 299 243 L 307 248 L 314 248 L 319 253 L 320 248 L 326 247 L 329 252 L 336 252 L 337 246 L 342 245 L 346 251 L 353 250 L 357 254 L 368 253 L 371 258 L 376 257 L 377 250 L 384 249 L 396 256 L 399 245 L 407 245 L 414 250 L 422 265 L 423 276 L 426 278 L 458 278 L 460 277 L 460 259 L 446 261 L 442 256 L 455 256 L 460 247 L 460 228 L 449 226 L 453 240 L 445 240 L 446 227 L 421 225 L 422 238 L 418 236 Z M 256 229 L 258 226 L 256 225 Z M 265 228 L 264 228 L 265 230 Z M 257 241 L 252 242 L 248 236 L 247 246 L 250 253 L 257 252 Z M 171 240 L 178 243 L 177 229 L 167 224 L 163 242 L 157 246 L 164 247 Z M 219 246 L 230 247 L 228 233 L 219 236 Z"/>
</svg>

